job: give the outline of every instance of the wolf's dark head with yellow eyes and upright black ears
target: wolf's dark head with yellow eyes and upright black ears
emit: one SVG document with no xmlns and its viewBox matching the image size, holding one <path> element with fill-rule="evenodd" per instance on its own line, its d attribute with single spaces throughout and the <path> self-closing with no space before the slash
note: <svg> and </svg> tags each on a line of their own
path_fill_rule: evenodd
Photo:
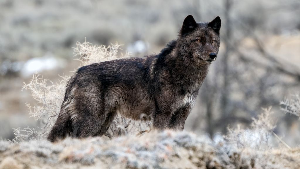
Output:
<svg viewBox="0 0 300 169">
<path fill-rule="evenodd" d="M 192 15 L 184 19 L 177 49 L 187 65 L 197 68 L 216 60 L 220 47 L 220 27 L 220 17 L 209 23 L 196 23 Z"/>
</svg>

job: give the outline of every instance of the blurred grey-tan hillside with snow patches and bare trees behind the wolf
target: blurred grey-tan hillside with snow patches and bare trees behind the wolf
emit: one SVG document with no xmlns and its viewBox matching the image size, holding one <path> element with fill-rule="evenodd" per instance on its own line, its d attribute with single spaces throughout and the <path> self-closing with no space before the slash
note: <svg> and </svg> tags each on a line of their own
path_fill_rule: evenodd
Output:
<svg viewBox="0 0 300 169">
<path fill-rule="evenodd" d="M 71 75 L 76 41 L 109 45 L 118 41 L 133 57 L 158 53 L 176 38 L 184 17 L 222 20 L 217 61 L 200 89 L 185 129 L 226 132 L 228 124 L 250 124 L 261 107 L 277 112 L 275 132 L 298 145 L 298 118 L 280 111 L 280 100 L 300 91 L 300 2 L 0 0 L 0 137 L 12 128 L 35 127 L 21 91 L 35 71 L 54 82 Z"/>
</svg>

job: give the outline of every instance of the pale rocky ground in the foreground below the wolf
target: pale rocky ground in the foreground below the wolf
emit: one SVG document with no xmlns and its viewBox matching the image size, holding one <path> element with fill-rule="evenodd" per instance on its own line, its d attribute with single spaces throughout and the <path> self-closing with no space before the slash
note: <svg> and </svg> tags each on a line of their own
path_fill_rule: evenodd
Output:
<svg viewBox="0 0 300 169">
<path fill-rule="evenodd" d="M 188 132 L 150 132 L 106 140 L 65 139 L 58 143 L 1 141 L 0 169 L 22 168 L 300 168 L 300 148 L 238 148 L 225 140 Z"/>
</svg>

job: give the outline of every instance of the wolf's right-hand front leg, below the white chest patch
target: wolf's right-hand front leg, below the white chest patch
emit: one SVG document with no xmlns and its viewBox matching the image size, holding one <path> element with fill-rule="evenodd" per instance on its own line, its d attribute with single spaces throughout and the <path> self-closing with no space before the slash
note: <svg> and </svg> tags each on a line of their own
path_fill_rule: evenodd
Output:
<svg viewBox="0 0 300 169">
<path fill-rule="evenodd" d="M 176 112 L 174 112 L 168 127 L 173 130 L 183 130 L 184 122 L 191 111 L 192 106 L 189 104 L 186 104 L 182 108 L 178 109 Z"/>
</svg>

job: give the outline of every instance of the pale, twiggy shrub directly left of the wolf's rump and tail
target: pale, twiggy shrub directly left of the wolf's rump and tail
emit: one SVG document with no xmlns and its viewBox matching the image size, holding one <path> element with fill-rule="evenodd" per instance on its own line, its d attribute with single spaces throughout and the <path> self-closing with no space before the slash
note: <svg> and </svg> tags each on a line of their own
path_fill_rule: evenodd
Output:
<svg viewBox="0 0 300 169">
<path fill-rule="evenodd" d="M 52 81 L 43 78 L 40 74 L 35 73 L 29 83 L 24 82 L 22 89 L 29 90 L 32 98 L 37 103 L 35 106 L 26 104 L 29 109 L 29 115 L 35 118 L 35 120 L 39 120 L 41 125 L 38 132 L 32 128 L 29 130 L 29 127 L 23 130 L 19 128 L 14 129 L 15 139 L 13 141 L 44 137 L 50 130 L 59 113 L 64 98 L 65 84 L 69 79 L 68 76 L 60 76 L 60 78 L 59 83 L 54 84 Z"/>
</svg>

